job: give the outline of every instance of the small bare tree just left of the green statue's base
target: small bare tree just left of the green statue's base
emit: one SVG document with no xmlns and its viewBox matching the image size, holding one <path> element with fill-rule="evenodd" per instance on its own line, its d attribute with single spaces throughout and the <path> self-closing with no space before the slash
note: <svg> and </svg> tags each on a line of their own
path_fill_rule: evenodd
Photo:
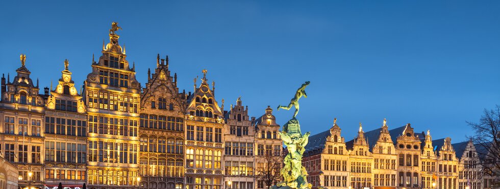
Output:
<svg viewBox="0 0 500 189">
<path fill-rule="evenodd" d="M 283 157 L 279 154 L 265 152 L 264 155 L 257 156 L 256 178 L 262 180 L 267 188 L 282 180 L 280 169 L 283 164 Z M 259 166 L 260 164 L 260 166 Z"/>
</svg>

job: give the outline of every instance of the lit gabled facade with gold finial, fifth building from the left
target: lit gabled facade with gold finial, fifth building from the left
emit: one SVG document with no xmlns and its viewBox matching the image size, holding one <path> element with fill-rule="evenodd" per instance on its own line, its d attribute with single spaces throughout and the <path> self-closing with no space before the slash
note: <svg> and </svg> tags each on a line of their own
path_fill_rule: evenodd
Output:
<svg viewBox="0 0 500 189">
<path fill-rule="evenodd" d="M 186 188 L 221 189 L 224 117 L 207 83 L 203 70 L 202 83 L 188 97 L 185 117 Z"/>
</svg>

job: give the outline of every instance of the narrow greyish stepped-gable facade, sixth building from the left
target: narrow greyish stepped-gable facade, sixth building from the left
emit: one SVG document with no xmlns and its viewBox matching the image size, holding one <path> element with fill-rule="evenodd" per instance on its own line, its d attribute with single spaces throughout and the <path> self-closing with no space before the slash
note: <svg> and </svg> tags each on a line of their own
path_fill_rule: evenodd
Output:
<svg viewBox="0 0 500 189">
<path fill-rule="evenodd" d="M 226 114 L 224 128 L 224 188 L 255 187 L 255 127 L 248 117 L 248 106 L 241 98 Z"/>
</svg>

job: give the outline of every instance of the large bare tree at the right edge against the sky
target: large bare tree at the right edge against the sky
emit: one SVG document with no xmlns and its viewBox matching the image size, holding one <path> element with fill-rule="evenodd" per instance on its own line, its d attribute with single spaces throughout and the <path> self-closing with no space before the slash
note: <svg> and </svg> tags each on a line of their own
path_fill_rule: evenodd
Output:
<svg viewBox="0 0 500 189">
<path fill-rule="evenodd" d="M 476 164 L 482 169 L 483 175 L 500 175 L 500 106 L 495 110 L 484 110 L 478 123 L 467 122 L 474 130 L 472 140 L 478 159 Z"/>
</svg>

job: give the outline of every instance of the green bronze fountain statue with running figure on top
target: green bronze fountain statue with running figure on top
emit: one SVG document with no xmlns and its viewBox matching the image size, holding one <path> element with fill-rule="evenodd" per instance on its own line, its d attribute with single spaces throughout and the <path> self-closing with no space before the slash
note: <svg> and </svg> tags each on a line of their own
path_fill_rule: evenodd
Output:
<svg viewBox="0 0 500 189">
<path fill-rule="evenodd" d="M 276 186 L 272 186 L 271 189 L 310 189 L 312 186 L 307 182 L 308 174 L 306 168 L 302 166 L 302 156 L 306 150 L 304 147 L 308 143 L 310 133 L 306 132 L 303 135 L 301 132 L 301 125 L 295 118 L 298 113 L 298 99 L 302 96 L 307 98 L 304 89 L 309 83 L 310 82 L 306 82 L 297 89 L 295 97 L 290 100 L 288 106 L 278 106 L 278 109 L 290 110 L 292 105 L 294 105 L 295 113 L 292 119 L 283 125 L 283 130 L 279 132 L 281 140 L 288 149 L 288 154 L 283 160 L 284 166 L 280 171 L 283 176 L 283 181 L 279 182 Z"/>
</svg>

